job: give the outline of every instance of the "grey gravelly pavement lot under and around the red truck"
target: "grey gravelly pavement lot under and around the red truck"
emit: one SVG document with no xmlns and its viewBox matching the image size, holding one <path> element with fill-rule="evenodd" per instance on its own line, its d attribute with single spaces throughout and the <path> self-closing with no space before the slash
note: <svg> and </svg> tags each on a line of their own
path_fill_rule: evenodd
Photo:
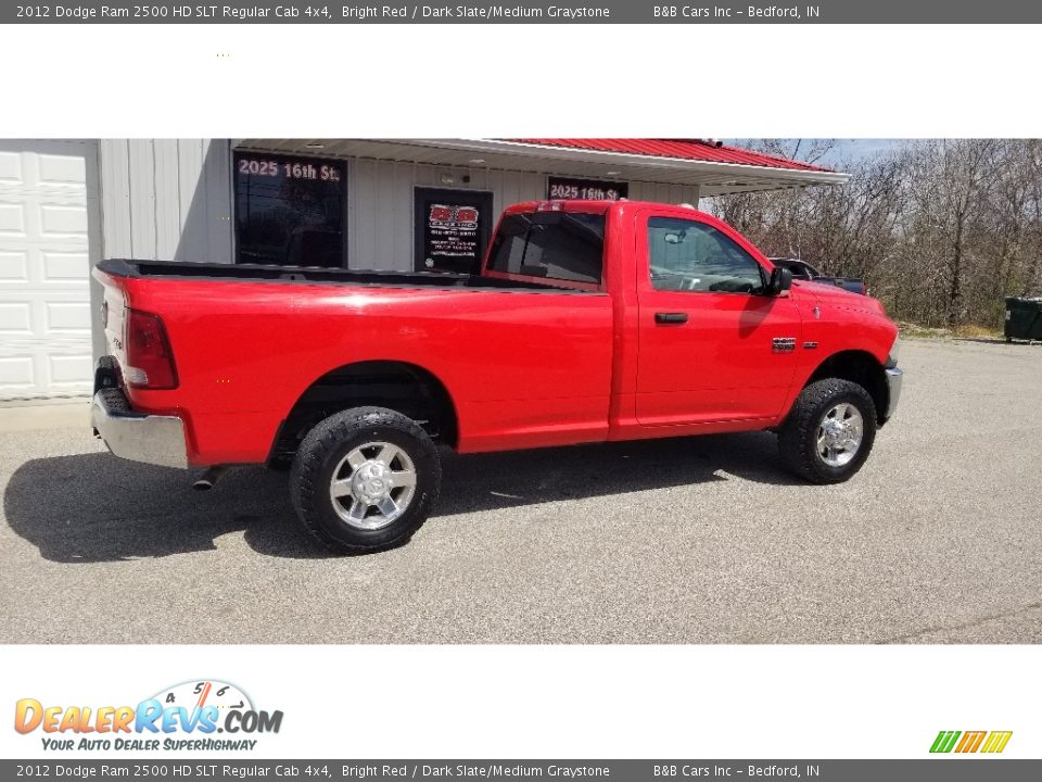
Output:
<svg viewBox="0 0 1042 782">
<path fill-rule="evenodd" d="M 907 341 L 902 366 L 847 484 L 792 479 L 768 433 L 450 457 L 408 545 L 343 558 L 283 475 L 198 493 L 12 426 L 0 642 L 1042 641 L 1042 345 Z"/>
</svg>

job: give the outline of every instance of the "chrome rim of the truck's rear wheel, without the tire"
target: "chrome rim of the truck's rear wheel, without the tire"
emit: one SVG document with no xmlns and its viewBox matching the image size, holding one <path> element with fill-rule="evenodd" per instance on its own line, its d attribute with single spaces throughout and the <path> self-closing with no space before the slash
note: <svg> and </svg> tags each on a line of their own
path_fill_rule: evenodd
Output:
<svg viewBox="0 0 1042 782">
<path fill-rule="evenodd" d="M 377 530 L 397 519 L 416 494 L 416 467 L 394 443 L 359 445 L 336 465 L 329 484 L 333 509 L 356 529 Z"/>
</svg>

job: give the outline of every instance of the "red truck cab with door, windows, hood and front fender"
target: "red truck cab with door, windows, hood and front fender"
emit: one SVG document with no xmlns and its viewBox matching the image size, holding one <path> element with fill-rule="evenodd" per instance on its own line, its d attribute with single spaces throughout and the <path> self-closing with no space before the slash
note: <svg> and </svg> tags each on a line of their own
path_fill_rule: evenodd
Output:
<svg viewBox="0 0 1042 782">
<path fill-rule="evenodd" d="M 884 367 L 897 328 L 879 302 L 793 282 L 730 226 L 687 205 L 518 204 L 482 274 L 612 297 L 609 439 L 772 427 L 814 370 L 844 352 L 835 361 L 860 353 L 878 365 L 864 381 L 880 421 L 897 401 Z M 842 332 L 844 324 L 857 328 Z"/>
</svg>

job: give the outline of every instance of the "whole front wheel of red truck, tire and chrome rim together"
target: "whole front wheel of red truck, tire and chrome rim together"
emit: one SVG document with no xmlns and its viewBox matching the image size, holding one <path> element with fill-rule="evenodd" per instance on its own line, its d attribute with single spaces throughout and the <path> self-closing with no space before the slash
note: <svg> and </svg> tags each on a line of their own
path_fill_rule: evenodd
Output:
<svg viewBox="0 0 1042 782">
<path fill-rule="evenodd" d="M 859 416 L 861 431 L 855 445 Z M 841 483 L 868 458 L 876 428 L 876 405 L 868 392 L 849 380 L 827 378 L 811 383 L 797 398 L 778 430 L 778 451 L 801 478 L 812 483 Z M 823 439 L 824 453 L 819 446 Z"/>
</svg>

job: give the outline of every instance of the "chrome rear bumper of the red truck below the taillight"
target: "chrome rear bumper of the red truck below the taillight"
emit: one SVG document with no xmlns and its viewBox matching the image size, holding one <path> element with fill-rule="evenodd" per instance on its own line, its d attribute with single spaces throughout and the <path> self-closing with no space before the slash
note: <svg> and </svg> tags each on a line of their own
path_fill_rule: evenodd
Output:
<svg viewBox="0 0 1042 782">
<path fill-rule="evenodd" d="M 90 418 L 113 455 L 163 467 L 188 467 L 185 422 L 177 416 L 135 413 L 123 391 L 103 388 L 94 393 Z"/>
</svg>

